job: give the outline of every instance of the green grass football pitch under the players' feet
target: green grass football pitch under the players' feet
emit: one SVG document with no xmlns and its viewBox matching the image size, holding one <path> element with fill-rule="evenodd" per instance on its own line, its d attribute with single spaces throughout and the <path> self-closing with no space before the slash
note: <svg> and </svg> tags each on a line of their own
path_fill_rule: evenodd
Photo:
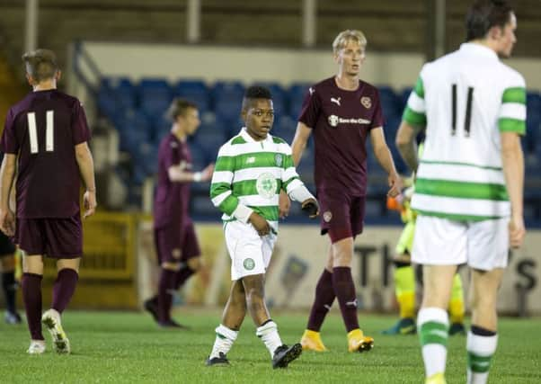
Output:
<svg viewBox="0 0 541 384">
<path fill-rule="evenodd" d="M 220 309 L 182 308 L 175 318 L 190 330 L 163 330 L 145 313 L 67 311 L 63 326 L 72 354 L 26 353 L 25 325 L 0 325 L 2 383 L 422 383 L 416 335 L 379 335 L 395 317 L 360 314 L 361 327 L 376 339 L 369 353 L 348 353 L 341 317 L 334 312 L 322 336 L 330 352 L 303 353 L 286 370 L 272 370 L 270 354 L 247 317 L 228 353 L 228 367 L 206 367 Z M 306 313 L 273 311 L 282 341 L 295 343 L 306 326 Z M 466 382 L 465 336 L 448 344 L 449 384 Z M 541 382 L 541 319 L 504 317 L 490 383 Z"/>
</svg>

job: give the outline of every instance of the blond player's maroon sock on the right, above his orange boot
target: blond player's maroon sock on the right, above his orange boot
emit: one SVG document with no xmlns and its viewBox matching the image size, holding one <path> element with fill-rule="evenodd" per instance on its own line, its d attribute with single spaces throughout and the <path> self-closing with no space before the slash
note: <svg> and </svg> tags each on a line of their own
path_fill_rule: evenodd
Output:
<svg viewBox="0 0 541 384">
<path fill-rule="evenodd" d="M 340 304 L 341 317 L 344 320 L 346 330 L 350 332 L 359 328 L 357 296 L 349 267 L 333 268 L 333 287 Z"/>
</svg>

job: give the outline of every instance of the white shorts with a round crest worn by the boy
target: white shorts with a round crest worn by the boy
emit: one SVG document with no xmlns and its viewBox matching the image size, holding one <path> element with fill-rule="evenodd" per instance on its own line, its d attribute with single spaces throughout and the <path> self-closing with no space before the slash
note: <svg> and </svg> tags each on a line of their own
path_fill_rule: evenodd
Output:
<svg viewBox="0 0 541 384">
<path fill-rule="evenodd" d="M 231 280 L 265 273 L 276 243 L 276 235 L 261 237 L 252 224 L 229 221 L 224 224 L 227 251 L 231 257 Z"/>
</svg>

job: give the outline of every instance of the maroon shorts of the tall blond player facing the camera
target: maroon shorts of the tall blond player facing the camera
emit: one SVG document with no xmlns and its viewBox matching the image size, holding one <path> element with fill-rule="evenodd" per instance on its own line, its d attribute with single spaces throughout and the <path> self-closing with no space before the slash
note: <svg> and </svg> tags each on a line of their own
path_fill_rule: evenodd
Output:
<svg viewBox="0 0 541 384">
<path fill-rule="evenodd" d="M 362 233 L 365 217 L 365 196 L 349 196 L 343 192 L 318 192 L 321 212 L 321 234 L 329 234 L 331 242 Z"/>
</svg>

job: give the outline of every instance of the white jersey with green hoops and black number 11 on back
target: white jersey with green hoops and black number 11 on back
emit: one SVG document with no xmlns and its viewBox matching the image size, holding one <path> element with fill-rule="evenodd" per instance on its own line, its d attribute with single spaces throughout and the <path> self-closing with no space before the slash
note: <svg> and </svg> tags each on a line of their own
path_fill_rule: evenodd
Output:
<svg viewBox="0 0 541 384">
<path fill-rule="evenodd" d="M 457 220 L 507 217 L 501 131 L 526 131 L 526 84 L 475 43 L 422 67 L 404 121 L 426 126 L 412 208 Z"/>
</svg>

